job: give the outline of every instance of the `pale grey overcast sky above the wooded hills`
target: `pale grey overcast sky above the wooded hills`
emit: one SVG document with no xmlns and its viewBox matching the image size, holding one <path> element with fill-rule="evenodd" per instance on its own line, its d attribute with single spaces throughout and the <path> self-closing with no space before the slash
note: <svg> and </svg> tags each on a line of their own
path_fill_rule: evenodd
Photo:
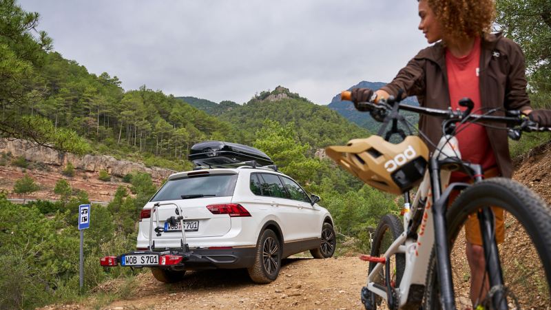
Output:
<svg viewBox="0 0 551 310">
<path fill-rule="evenodd" d="M 427 43 L 415 0 L 19 0 L 54 50 L 174 96 L 245 103 L 282 85 L 318 104 L 391 81 Z"/>
</svg>

